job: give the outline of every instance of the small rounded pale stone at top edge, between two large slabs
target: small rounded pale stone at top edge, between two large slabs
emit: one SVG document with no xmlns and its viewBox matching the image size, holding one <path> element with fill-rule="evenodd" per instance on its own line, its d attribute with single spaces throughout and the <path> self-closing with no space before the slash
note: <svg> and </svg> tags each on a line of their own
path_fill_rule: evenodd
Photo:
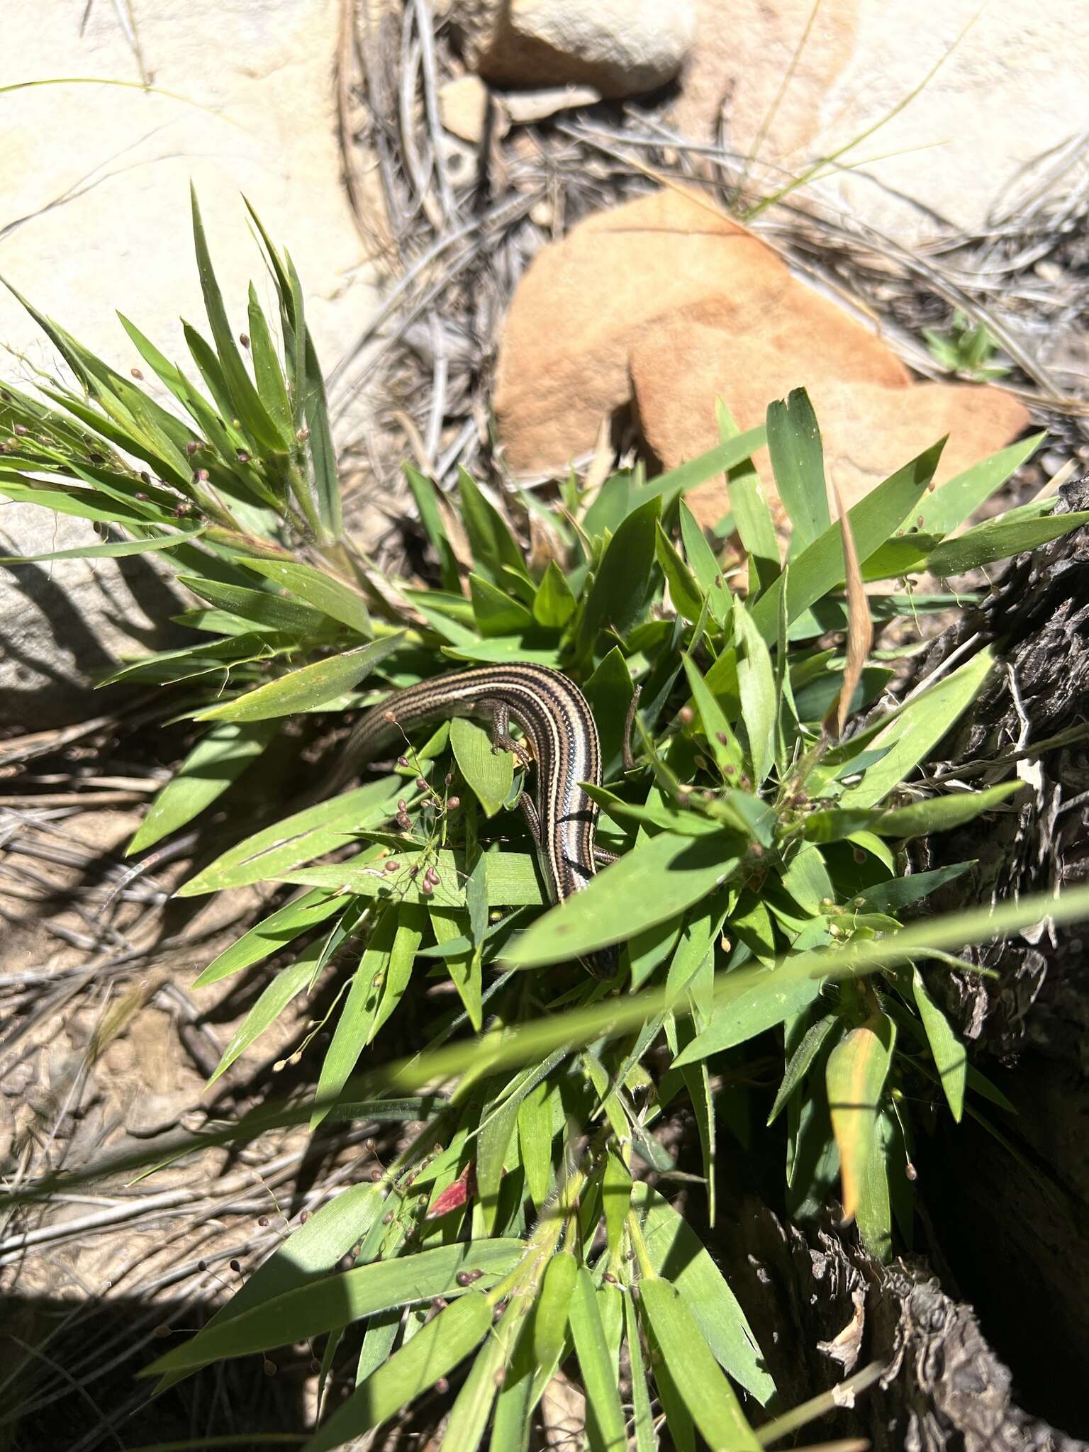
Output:
<svg viewBox="0 0 1089 1452">
<path fill-rule="evenodd" d="M 672 80 L 696 32 L 691 0 L 454 0 L 466 62 L 501 86 L 636 96 Z"/>
</svg>

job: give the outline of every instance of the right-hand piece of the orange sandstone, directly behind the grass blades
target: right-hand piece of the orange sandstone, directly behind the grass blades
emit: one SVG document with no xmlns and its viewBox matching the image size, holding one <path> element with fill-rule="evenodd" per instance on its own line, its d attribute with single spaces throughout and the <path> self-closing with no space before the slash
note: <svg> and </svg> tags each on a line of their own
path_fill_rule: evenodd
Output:
<svg viewBox="0 0 1089 1452">
<path fill-rule="evenodd" d="M 825 475 L 845 505 L 857 504 L 900 465 L 948 434 L 935 479 L 942 484 L 1003 444 L 1028 424 L 1025 407 L 999 388 L 966 383 L 886 383 L 845 380 L 825 367 L 803 335 L 791 348 L 768 347 L 764 335 L 733 337 L 703 324 L 665 322 L 632 350 L 632 379 L 645 437 L 672 469 L 719 443 L 714 401 L 723 398 L 738 425 L 764 423 L 767 405 L 793 388 L 806 388 L 820 425 Z M 755 456 L 770 497 L 774 485 L 767 450 Z M 729 513 L 725 479 L 688 497 L 701 524 Z"/>
</svg>

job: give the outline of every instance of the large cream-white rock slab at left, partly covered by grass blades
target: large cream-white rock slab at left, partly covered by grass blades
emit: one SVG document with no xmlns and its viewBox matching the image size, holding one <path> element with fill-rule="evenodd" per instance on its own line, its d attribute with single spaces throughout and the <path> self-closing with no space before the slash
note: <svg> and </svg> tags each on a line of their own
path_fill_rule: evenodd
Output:
<svg viewBox="0 0 1089 1452">
<path fill-rule="evenodd" d="M 238 331 L 250 279 L 266 311 L 273 298 L 245 193 L 295 257 L 306 319 L 331 370 L 376 306 L 373 269 L 340 183 L 330 80 L 338 10 L 337 0 L 136 6 L 155 90 L 58 84 L 7 94 L 0 273 L 122 373 L 139 359 L 115 308 L 195 373 L 179 322 L 206 330 L 192 177 Z M 139 83 L 123 12 L 68 0 L 7 6 L 4 80 Z M 0 338 L 10 348 L 0 375 L 12 382 L 58 372 L 55 350 L 7 293 Z M 366 417 L 362 402 L 341 423 L 359 430 Z M 3 553 L 96 540 L 90 526 L 22 504 L 0 504 L 0 531 Z M 163 643 L 176 608 L 144 558 L 0 568 L 0 720 L 41 727 L 106 709 L 107 698 L 89 696 L 90 674 Z"/>
</svg>

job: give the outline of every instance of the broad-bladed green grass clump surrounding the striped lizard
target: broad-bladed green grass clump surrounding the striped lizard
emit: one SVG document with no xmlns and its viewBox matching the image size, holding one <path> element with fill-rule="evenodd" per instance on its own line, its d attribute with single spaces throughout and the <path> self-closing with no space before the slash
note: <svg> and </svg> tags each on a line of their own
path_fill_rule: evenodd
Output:
<svg viewBox="0 0 1089 1452">
<path fill-rule="evenodd" d="M 1019 780 L 1011 762 L 980 791 L 926 786 L 919 765 L 992 659 L 980 650 L 883 707 L 912 648 L 876 648 L 876 630 L 964 603 L 922 592 L 915 575 L 961 575 L 1089 515 L 1053 517 L 1043 501 L 957 533 L 1037 436 L 934 488 L 938 443 L 833 521 L 817 423 L 794 392 L 745 434 L 723 407 L 720 444 L 671 473 L 621 470 L 595 492 L 563 481 L 559 507 L 517 491 L 499 499 L 468 475 L 447 495 L 407 469 L 430 547 L 423 590 L 380 575 L 344 534 L 290 260 L 258 222 L 279 328 L 251 290 L 240 341 L 196 203 L 193 224 L 211 340 L 186 327 L 186 341 L 203 388 L 125 322 L 179 411 L 38 314 L 77 386 L 0 392 L 0 491 L 107 527 L 105 543 L 65 553 L 161 552 L 196 601 L 183 616 L 193 643 L 107 678 L 184 684 L 202 727 L 131 851 L 229 802 L 298 713 L 333 725 L 395 687 L 521 661 L 566 672 L 594 710 L 604 784 L 591 790 L 617 861 L 549 906 L 511 815 L 524 765 L 492 751 L 484 727 L 447 722 L 364 784 L 257 833 L 240 828 L 184 883 L 183 896 L 293 889 L 196 980 L 286 955 L 216 1076 L 350 964 L 328 1045 L 302 1050 L 312 1096 L 219 1138 L 299 1118 L 423 1128 L 151 1369 L 171 1382 L 327 1333 L 325 1382 L 343 1331 L 362 1321 L 354 1390 L 309 1452 L 444 1378 L 457 1388 L 444 1446 L 470 1452 L 491 1429 L 492 1446 L 524 1448 L 560 1366 L 585 1390 L 592 1448 L 632 1437 L 643 1452 L 664 1417 L 678 1446 L 698 1430 L 711 1446 L 755 1449 L 777 1435 L 774 1422 L 752 1426 L 775 1387 L 706 1246 L 643 1180 L 648 1167 L 666 1182 L 678 1170 L 655 1130 L 691 1106 L 711 1224 L 726 1118 L 749 1125 L 752 1153 L 784 1153 L 793 1215 L 838 1195 L 873 1256 L 910 1244 L 915 1115 L 944 1105 L 960 1119 L 971 1105 L 986 1117 L 1003 1102 L 968 1066 L 921 966 L 964 967 L 950 953 L 1045 913 L 1085 915 L 1086 897 L 908 921 L 971 864 L 905 874 L 905 845 L 1012 810 Z M 791 521 L 786 552 L 751 462 L 765 444 Z M 685 505 L 723 472 L 745 555 L 732 569 Z M 549 558 L 526 549 L 534 513 L 547 517 Z M 880 587 L 890 579 L 902 584 Z M 861 710 L 865 725 L 847 735 Z M 574 961 L 614 945 L 611 983 Z M 436 974 L 457 1011 L 411 1059 L 360 1073 Z M 761 1088 L 745 1066 L 768 1053 L 780 1069 Z M 334 1270 L 346 1255 L 353 1268 Z"/>
</svg>

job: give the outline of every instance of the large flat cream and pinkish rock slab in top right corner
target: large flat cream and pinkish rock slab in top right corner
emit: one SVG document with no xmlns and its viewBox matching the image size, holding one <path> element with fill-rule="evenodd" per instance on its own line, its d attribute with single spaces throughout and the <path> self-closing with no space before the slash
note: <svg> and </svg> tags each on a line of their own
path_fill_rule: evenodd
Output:
<svg viewBox="0 0 1089 1452">
<path fill-rule="evenodd" d="M 915 245 L 976 235 L 1037 189 L 1085 184 L 1083 0 L 696 6 L 674 122 L 709 141 L 722 121 L 767 192 L 835 155 L 793 200 L 813 196 Z"/>
</svg>

